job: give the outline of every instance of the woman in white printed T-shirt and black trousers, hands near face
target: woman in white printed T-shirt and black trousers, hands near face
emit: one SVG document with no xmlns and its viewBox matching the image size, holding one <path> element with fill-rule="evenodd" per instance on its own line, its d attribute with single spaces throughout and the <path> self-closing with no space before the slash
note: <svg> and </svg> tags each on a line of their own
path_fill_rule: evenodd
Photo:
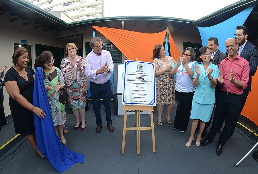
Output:
<svg viewBox="0 0 258 174">
<path fill-rule="evenodd" d="M 177 59 L 177 63 L 171 70 L 171 75 L 175 75 L 175 95 L 177 101 L 177 112 L 174 120 L 174 129 L 180 129 L 183 133 L 187 130 L 190 111 L 192 106 L 193 94 L 196 86 L 193 86 L 194 65 L 196 53 L 193 48 L 186 48 L 183 57 Z"/>
</svg>

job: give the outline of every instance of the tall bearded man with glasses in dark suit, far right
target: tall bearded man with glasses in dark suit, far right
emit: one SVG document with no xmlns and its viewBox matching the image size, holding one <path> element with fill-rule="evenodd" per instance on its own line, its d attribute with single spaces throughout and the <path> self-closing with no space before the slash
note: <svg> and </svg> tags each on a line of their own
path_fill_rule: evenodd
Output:
<svg viewBox="0 0 258 174">
<path fill-rule="evenodd" d="M 236 27 L 235 37 L 236 37 L 237 44 L 239 45 L 239 48 L 237 51 L 239 56 L 241 56 L 242 58 L 246 59 L 249 62 L 250 74 L 249 74 L 248 86 L 244 89 L 243 94 L 241 95 L 241 104 L 238 110 L 238 114 L 234 119 L 234 125 L 232 126 L 230 136 L 232 136 L 234 133 L 234 128 L 245 106 L 246 98 L 249 94 L 249 91 L 251 91 L 252 76 L 255 75 L 255 72 L 257 70 L 257 64 L 258 64 L 257 48 L 247 40 L 247 36 L 248 36 L 247 27 L 245 26 Z"/>
</svg>

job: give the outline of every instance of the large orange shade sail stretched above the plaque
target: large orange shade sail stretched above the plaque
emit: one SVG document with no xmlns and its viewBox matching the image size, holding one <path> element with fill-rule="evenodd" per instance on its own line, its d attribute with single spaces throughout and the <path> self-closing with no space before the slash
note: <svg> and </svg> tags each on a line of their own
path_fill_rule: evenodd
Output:
<svg viewBox="0 0 258 174">
<path fill-rule="evenodd" d="M 157 44 L 163 44 L 167 29 L 159 33 L 140 33 L 107 27 L 94 29 L 109 39 L 129 60 L 153 62 L 153 48 Z"/>
</svg>

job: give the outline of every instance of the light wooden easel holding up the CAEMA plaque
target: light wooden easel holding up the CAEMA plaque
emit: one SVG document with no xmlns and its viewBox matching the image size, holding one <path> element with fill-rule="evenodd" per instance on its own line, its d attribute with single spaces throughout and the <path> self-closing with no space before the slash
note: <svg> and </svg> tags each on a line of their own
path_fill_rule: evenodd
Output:
<svg viewBox="0 0 258 174">
<path fill-rule="evenodd" d="M 155 147 L 155 135 L 154 135 L 154 123 L 153 123 L 153 106 L 138 106 L 138 105 L 123 105 L 124 109 L 124 130 L 123 130 L 123 143 L 122 143 L 122 154 L 124 154 L 124 144 L 126 131 L 136 131 L 137 130 L 137 155 L 140 155 L 140 130 L 151 130 L 152 132 L 152 146 L 153 153 L 156 152 Z M 134 127 L 126 127 L 127 120 L 127 110 L 135 110 L 134 114 Z M 140 110 L 150 111 L 150 122 L 151 127 L 140 127 Z M 136 126 L 136 115 L 137 115 L 137 127 Z"/>
</svg>

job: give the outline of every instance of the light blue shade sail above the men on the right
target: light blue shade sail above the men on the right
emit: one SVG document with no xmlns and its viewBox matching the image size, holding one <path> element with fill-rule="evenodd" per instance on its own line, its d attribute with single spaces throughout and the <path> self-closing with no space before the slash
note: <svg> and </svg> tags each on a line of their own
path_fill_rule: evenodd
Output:
<svg viewBox="0 0 258 174">
<path fill-rule="evenodd" d="M 236 33 L 236 26 L 243 25 L 256 4 L 251 5 L 247 9 L 234 15 L 233 17 L 211 27 L 198 27 L 202 46 L 207 46 L 210 37 L 216 37 L 219 42 L 219 49 L 222 53 L 226 53 L 225 41 L 228 38 L 234 38 Z"/>
</svg>

